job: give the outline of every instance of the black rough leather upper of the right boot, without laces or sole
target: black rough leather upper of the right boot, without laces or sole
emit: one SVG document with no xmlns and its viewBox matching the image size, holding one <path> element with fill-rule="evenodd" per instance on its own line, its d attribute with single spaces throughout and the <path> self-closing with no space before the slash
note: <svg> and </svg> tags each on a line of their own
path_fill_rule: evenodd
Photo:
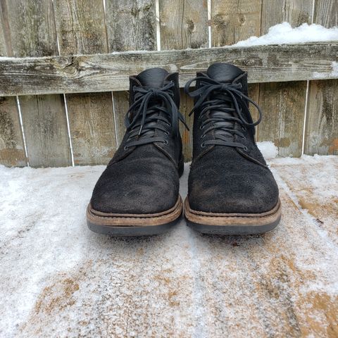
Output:
<svg viewBox="0 0 338 338">
<path fill-rule="evenodd" d="M 198 76 L 210 76 L 219 82 L 232 82 L 244 72 L 234 65 L 217 63 Z M 246 75 L 239 82 L 247 94 Z M 199 87 L 199 83 L 196 84 Z M 188 182 L 190 208 L 209 213 L 264 213 L 278 203 L 278 187 L 254 141 L 254 128 L 246 128 L 246 139 L 234 135 L 234 141 L 247 147 L 247 151 L 230 146 L 201 142 L 213 137 L 209 132 L 202 140 L 203 130 L 199 112 L 194 113 L 194 150 Z M 252 122 L 251 116 L 246 116 Z M 242 126 L 235 124 L 237 130 Z"/>
</svg>

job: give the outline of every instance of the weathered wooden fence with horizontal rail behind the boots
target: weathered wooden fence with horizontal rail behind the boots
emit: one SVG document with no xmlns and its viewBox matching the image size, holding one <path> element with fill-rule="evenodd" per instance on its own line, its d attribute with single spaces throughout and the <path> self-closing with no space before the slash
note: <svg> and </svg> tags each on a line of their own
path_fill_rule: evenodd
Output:
<svg viewBox="0 0 338 338">
<path fill-rule="evenodd" d="M 179 71 L 183 86 L 215 61 L 248 70 L 264 112 L 258 141 L 274 142 L 280 156 L 338 154 L 338 42 L 223 48 L 283 21 L 338 25 L 338 0 L 0 4 L 4 165 L 106 164 L 125 131 L 128 75 L 160 66 Z M 181 94 L 191 125 L 192 100 Z M 192 133 L 182 128 L 182 136 L 189 161 Z"/>
</svg>

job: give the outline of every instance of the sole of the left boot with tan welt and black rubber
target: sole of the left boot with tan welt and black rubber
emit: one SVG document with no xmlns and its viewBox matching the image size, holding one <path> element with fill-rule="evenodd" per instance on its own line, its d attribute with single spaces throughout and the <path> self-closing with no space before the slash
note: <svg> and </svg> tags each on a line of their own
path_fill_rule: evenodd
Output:
<svg viewBox="0 0 338 338">
<path fill-rule="evenodd" d="M 113 214 L 95 211 L 89 203 L 87 206 L 87 225 L 99 234 L 113 236 L 149 236 L 162 234 L 173 227 L 182 215 L 181 196 L 173 208 L 161 213 L 151 214 Z"/>
</svg>

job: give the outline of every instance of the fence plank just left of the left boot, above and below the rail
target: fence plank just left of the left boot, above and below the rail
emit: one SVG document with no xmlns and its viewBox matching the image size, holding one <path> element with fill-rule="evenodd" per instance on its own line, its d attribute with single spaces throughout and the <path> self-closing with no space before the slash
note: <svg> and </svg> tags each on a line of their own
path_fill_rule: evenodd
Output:
<svg viewBox="0 0 338 338">
<path fill-rule="evenodd" d="M 108 51 L 102 0 L 56 0 L 54 10 L 61 55 Z M 111 93 L 65 99 L 75 165 L 108 163 L 116 148 Z"/>
</svg>

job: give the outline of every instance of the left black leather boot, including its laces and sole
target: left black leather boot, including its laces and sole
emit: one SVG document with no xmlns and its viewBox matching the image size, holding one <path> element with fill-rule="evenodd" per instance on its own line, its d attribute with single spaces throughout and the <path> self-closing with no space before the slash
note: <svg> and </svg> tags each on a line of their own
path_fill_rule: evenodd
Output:
<svg viewBox="0 0 338 338">
<path fill-rule="evenodd" d="M 178 73 L 161 68 L 130 77 L 127 132 L 94 187 L 90 230 L 138 236 L 168 230 L 180 218 L 183 173 Z"/>
</svg>

